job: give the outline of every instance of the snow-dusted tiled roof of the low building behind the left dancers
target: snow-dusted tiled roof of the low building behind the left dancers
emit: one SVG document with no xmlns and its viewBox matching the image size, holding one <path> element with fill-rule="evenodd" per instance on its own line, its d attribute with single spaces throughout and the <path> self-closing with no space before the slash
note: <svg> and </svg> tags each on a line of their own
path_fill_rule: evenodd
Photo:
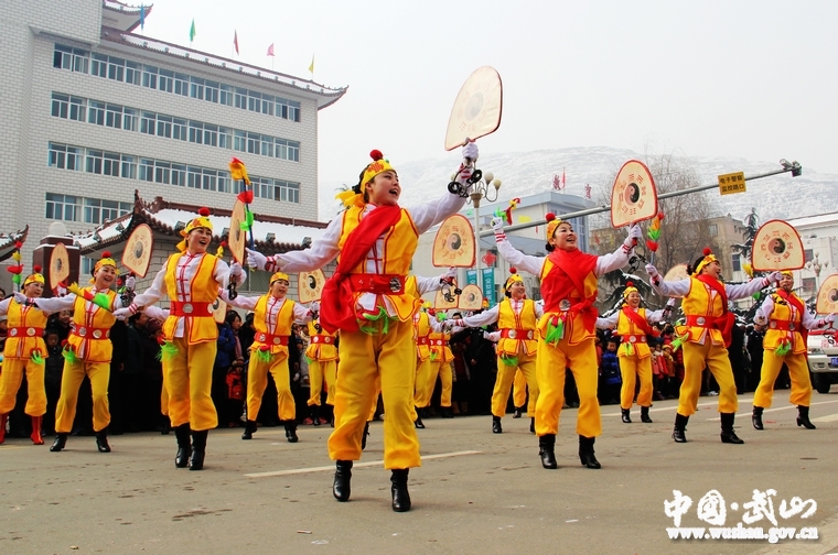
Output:
<svg viewBox="0 0 838 555">
<path fill-rule="evenodd" d="M 148 224 L 157 233 L 170 236 L 172 240 L 182 239 L 179 222 L 185 226 L 197 216 L 201 206 L 172 203 L 162 197 L 146 203 L 135 191 L 133 210 L 96 229 L 86 232 L 69 233 L 82 255 L 90 255 L 104 250 L 117 250 L 118 246 L 131 235 L 140 224 Z M 213 224 L 215 246 L 227 240 L 225 229 L 229 229 L 233 210 L 228 208 L 210 208 L 210 221 Z M 264 254 L 277 254 L 308 248 L 309 242 L 322 237 L 327 224 L 321 221 L 254 214 L 254 246 Z M 307 240 L 308 239 L 308 240 Z M 215 247 L 214 246 L 214 247 Z"/>
</svg>

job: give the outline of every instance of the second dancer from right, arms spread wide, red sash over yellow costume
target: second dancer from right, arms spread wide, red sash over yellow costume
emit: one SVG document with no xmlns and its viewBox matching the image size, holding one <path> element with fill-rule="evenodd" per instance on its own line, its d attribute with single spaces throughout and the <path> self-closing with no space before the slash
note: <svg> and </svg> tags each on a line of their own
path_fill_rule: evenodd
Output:
<svg viewBox="0 0 838 555">
<path fill-rule="evenodd" d="M 730 330 L 735 317 L 728 311 L 728 301 L 748 298 L 771 282 L 778 281 L 780 272 L 740 285 L 726 285 L 721 281 L 721 264 L 710 249 L 705 249 L 703 255 L 695 265 L 687 266 L 687 271 L 690 276 L 686 280 L 666 282 L 654 265 L 646 265 L 652 287 L 659 295 L 684 297 L 681 311 L 687 317 L 685 325 L 675 327 L 678 336 L 676 346 L 680 344 L 684 348 L 684 383 L 678 396 L 673 439 L 676 443 L 687 442 L 687 422 L 696 412 L 701 392 L 701 372 L 707 367 L 719 383 L 721 440 L 742 444 L 744 442 L 733 432 L 739 400 L 727 346 L 730 345 Z"/>
</svg>

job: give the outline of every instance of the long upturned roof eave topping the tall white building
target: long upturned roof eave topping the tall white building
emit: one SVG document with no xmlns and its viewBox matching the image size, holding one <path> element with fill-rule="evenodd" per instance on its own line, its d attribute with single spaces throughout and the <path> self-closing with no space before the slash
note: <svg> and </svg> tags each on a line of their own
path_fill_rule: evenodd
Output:
<svg viewBox="0 0 838 555">
<path fill-rule="evenodd" d="M 165 56 L 170 56 L 180 61 L 185 59 L 195 64 L 212 66 L 238 76 L 247 75 L 249 77 L 256 77 L 257 79 L 266 81 L 266 84 L 269 83 L 275 86 L 281 85 L 283 87 L 288 87 L 298 91 L 298 94 L 313 96 L 313 98 L 318 100 L 318 110 L 326 108 L 327 106 L 331 106 L 340 100 L 340 98 L 346 94 L 346 90 L 348 89 L 348 86 L 330 88 L 325 85 L 314 83 L 310 79 L 301 79 L 299 77 L 273 72 L 264 67 L 243 64 L 241 62 L 236 62 L 235 59 L 214 56 L 213 54 L 207 54 L 206 52 L 186 48 L 184 46 L 178 46 L 176 44 L 159 41 L 157 39 L 149 39 L 148 36 L 137 35 L 107 25 L 101 26 L 101 40 L 122 44 L 125 46 L 138 48 L 146 52 L 155 52 L 158 54 L 163 54 Z"/>
</svg>

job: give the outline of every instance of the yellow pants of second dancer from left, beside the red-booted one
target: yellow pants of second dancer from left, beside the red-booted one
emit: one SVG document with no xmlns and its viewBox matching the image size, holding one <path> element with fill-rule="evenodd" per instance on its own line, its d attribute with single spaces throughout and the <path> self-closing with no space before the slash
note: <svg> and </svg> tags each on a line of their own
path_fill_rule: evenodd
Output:
<svg viewBox="0 0 838 555">
<path fill-rule="evenodd" d="M 61 377 L 61 396 L 55 407 L 55 432 L 69 434 L 76 417 L 78 388 L 87 376 L 93 390 L 93 431 L 101 432 L 110 424 L 108 405 L 108 381 L 110 381 L 110 362 L 64 361 Z"/>
</svg>

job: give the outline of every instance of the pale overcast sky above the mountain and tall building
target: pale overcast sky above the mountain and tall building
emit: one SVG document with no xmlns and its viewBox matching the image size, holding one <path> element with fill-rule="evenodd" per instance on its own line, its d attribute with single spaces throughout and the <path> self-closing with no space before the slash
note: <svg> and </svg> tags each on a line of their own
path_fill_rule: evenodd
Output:
<svg viewBox="0 0 838 555">
<path fill-rule="evenodd" d="M 139 1 L 129 0 L 129 3 Z M 494 66 L 501 128 L 481 152 L 605 145 L 732 155 L 838 174 L 836 1 L 155 0 L 148 36 L 350 86 L 320 112 L 320 181 L 372 149 L 443 149 L 466 77 Z M 138 29 L 136 32 L 140 32 Z"/>
</svg>

